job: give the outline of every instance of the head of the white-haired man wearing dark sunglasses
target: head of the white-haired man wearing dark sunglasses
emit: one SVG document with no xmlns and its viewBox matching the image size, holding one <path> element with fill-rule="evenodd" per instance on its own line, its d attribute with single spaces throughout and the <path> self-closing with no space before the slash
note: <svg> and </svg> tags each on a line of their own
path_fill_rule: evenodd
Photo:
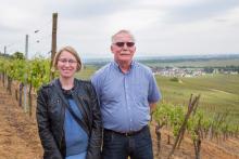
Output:
<svg viewBox="0 0 239 159">
<path fill-rule="evenodd" d="M 130 35 L 125 32 L 116 35 L 111 51 L 116 62 L 130 64 L 136 52 L 135 42 Z"/>
</svg>

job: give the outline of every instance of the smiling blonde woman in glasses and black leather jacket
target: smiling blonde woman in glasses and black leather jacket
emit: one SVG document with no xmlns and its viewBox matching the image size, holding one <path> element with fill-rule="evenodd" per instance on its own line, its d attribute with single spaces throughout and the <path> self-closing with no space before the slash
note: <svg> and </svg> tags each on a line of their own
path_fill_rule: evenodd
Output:
<svg viewBox="0 0 239 159">
<path fill-rule="evenodd" d="M 37 122 L 45 159 L 100 159 L 102 122 L 95 89 L 74 78 L 81 62 L 72 47 L 53 66 L 60 77 L 38 91 Z"/>
</svg>

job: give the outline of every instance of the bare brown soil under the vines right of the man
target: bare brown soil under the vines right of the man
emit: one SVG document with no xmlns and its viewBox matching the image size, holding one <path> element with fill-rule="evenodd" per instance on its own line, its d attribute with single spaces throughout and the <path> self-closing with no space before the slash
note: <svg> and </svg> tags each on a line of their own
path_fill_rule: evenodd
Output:
<svg viewBox="0 0 239 159">
<path fill-rule="evenodd" d="M 158 154 L 156 134 L 154 133 L 153 123 L 151 123 L 151 134 L 153 140 L 154 159 L 166 159 L 174 144 L 173 134 L 166 130 L 162 130 L 161 151 Z M 168 134 L 169 141 L 168 144 Z M 189 135 L 185 135 L 180 148 L 176 149 L 173 159 L 194 159 L 193 143 Z M 210 141 L 203 140 L 201 146 L 201 159 L 239 159 L 239 138 L 228 138 Z"/>
</svg>

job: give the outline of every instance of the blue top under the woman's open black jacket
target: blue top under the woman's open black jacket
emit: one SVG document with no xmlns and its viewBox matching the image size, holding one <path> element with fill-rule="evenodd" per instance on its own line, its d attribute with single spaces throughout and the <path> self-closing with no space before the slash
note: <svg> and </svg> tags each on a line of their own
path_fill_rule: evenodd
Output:
<svg viewBox="0 0 239 159">
<path fill-rule="evenodd" d="M 79 119 L 83 118 L 75 101 L 67 97 L 68 104 Z M 75 121 L 67 108 L 65 108 L 65 143 L 66 159 L 85 159 L 88 147 L 88 135 L 84 129 Z"/>
</svg>

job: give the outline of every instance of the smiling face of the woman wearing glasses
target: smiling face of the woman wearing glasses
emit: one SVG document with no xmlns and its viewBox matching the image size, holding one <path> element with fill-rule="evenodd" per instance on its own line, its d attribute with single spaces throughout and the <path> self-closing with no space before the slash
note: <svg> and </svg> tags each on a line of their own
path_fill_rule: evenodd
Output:
<svg viewBox="0 0 239 159">
<path fill-rule="evenodd" d="M 62 78 L 74 78 L 77 70 L 76 57 L 67 51 L 62 51 L 58 59 L 58 70 Z"/>
</svg>

